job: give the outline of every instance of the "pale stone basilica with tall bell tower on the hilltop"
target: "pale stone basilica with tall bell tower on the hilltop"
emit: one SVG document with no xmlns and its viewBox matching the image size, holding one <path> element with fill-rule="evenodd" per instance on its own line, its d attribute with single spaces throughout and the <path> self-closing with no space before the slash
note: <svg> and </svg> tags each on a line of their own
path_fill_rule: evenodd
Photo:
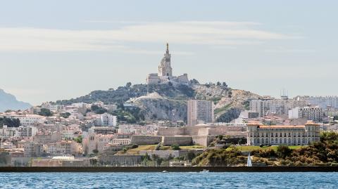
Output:
<svg viewBox="0 0 338 189">
<path fill-rule="evenodd" d="M 158 65 L 158 73 L 148 74 L 146 84 L 189 84 L 188 74 L 173 76 L 173 68 L 170 65 L 171 55 L 169 53 L 169 45 L 167 43 L 167 51 L 165 52 L 160 65 Z"/>
</svg>

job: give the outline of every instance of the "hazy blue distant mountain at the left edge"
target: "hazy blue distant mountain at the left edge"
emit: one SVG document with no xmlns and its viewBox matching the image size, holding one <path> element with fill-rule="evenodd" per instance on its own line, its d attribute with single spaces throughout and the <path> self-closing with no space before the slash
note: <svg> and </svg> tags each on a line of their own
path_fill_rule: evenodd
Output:
<svg viewBox="0 0 338 189">
<path fill-rule="evenodd" d="M 32 105 L 29 103 L 18 101 L 15 96 L 0 89 L 0 112 L 6 110 L 26 110 L 30 107 L 32 107 Z"/>
</svg>

